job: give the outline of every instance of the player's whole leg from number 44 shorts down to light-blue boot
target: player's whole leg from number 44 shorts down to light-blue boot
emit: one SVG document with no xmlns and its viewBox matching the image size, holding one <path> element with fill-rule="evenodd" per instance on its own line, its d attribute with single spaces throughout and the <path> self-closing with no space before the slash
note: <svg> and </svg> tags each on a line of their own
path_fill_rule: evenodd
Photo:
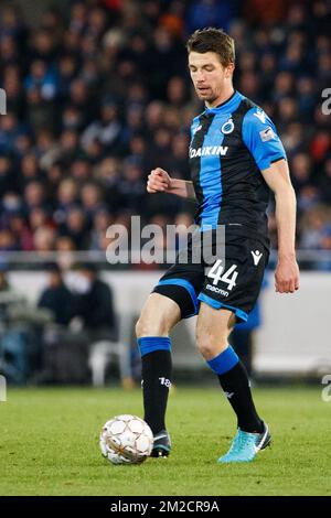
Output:
<svg viewBox="0 0 331 518">
<path fill-rule="evenodd" d="M 217 239 L 220 236 L 215 236 L 212 246 L 204 246 L 204 257 L 209 260 L 205 260 L 205 280 L 199 294 L 202 304 L 197 343 L 238 421 L 231 454 L 220 461 L 250 461 L 258 450 L 266 447 L 270 436 L 256 412 L 246 369 L 228 345 L 228 335 L 235 320 L 247 321 L 256 303 L 269 252 L 260 235 L 247 228 L 226 228 L 224 257 L 215 259 Z"/>
</svg>

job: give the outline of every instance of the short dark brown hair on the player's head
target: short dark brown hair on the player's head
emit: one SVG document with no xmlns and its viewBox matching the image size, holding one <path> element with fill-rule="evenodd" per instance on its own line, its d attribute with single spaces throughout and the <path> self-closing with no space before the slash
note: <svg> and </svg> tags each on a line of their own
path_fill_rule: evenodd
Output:
<svg viewBox="0 0 331 518">
<path fill-rule="evenodd" d="M 218 54 L 223 66 L 235 62 L 234 39 L 222 29 L 197 29 L 189 37 L 186 50 L 189 54 L 190 52 L 199 52 L 200 54 L 215 52 Z"/>
</svg>

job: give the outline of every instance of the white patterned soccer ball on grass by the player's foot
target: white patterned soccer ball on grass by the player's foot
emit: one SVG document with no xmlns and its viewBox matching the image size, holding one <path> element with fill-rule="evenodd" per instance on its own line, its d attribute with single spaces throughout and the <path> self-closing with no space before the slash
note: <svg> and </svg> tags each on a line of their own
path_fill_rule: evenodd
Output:
<svg viewBox="0 0 331 518">
<path fill-rule="evenodd" d="M 102 454 L 113 464 L 138 464 L 151 454 L 153 434 L 136 416 L 116 416 L 103 427 L 99 441 Z"/>
</svg>

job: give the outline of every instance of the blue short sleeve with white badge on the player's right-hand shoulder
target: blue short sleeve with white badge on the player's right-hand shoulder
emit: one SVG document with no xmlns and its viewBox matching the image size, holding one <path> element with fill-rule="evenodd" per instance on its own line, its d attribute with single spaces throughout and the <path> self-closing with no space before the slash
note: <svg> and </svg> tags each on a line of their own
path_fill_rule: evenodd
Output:
<svg viewBox="0 0 331 518">
<path fill-rule="evenodd" d="M 244 117 L 243 140 L 260 171 L 277 160 L 287 160 L 274 122 L 258 107 L 252 108 Z"/>
</svg>

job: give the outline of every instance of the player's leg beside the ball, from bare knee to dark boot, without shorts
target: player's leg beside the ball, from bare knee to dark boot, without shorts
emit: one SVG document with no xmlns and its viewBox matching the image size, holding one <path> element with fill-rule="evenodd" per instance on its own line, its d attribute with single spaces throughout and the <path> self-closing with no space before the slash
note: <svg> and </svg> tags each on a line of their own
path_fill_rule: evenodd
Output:
<svg viewBox="0 0 331 518">
<path fill-rule="evenodd" d="M 169 443 L 168 436 L 163 435 L 167 435 L 166 410 L 172 379 L 169 333 L 180 320 L 181 310 L 173 300 L 151 293 L 136 325 L 141 355 L 145 421 L 154 438 L 161 438 L 164 449 Z M 169 451 L 164 451 L 167 453 Z"/>
</svg>

